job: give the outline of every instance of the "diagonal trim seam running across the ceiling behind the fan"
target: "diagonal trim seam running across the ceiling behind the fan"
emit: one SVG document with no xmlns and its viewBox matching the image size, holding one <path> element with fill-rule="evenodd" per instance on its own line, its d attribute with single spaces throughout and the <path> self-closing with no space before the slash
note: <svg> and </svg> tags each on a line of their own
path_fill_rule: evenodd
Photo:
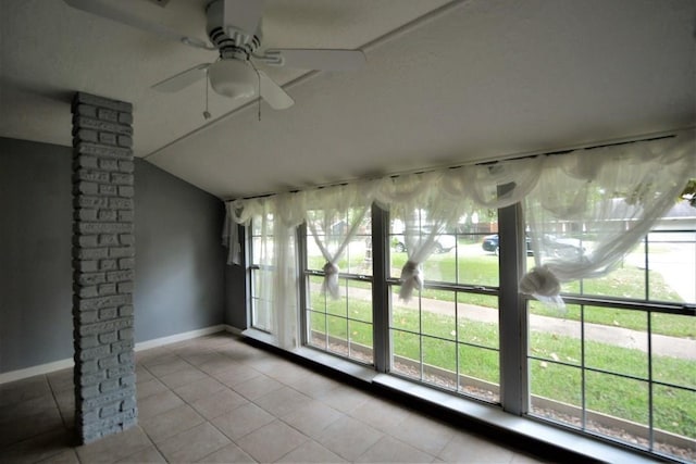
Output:
<svg viewBox="0 0 696 464">
<path fill-rule="evenodd" d="M 420 28 L 422 26 L 424 26 L 425 24 L 430 23 L 431 21 L 435 21 L 438 17 L 451 12 L 452 10 L 461 7 L 462 4 L 469 2 L 471 0 L 452 0 L 449 3 L 446 3 L 442 7 L 436 8 L 433 11 L 430 11 L 427 13 L 425 13 L 422 16 L 419 16 L 399 27 L 397 27 L 396 29 L 391 29 L 388 33 L 373 39 L 370 40 L 369 42 L 360 46 L 358 48 L 358 50 L 362 50 L 363 52 L 369 52 L 371 50 L 374 50 L 375 48 L 385 45 L 405 34 L 408 34 L 417 28 Z M 296 77 L 295 79 L 284 84 L 283 86 L 281 86 L 283 89 L 291 89 L 300 84 L 303 84 L 306 81 L 309 81 L 311 78 L 318 76 L 319 74 L 321 74 L 322 71 L 310 71 L 307 72 L 298 77 Z M 221 124 L 227 120 L 229 120 L 232 116 L 236 115 L 237 113 L 241 113 L 243 111 L 249 110 L 251 108 L 256 108 L 257 103 L 258 103 L 258 98 L 254 98 L 253 100 L 250 100 L 248 102 L 246 102 L 245 104 L 235 108 L 234 110 L 229 111 L 228 113 L 223 114 L 222 116 L 220 116 L 219 118 L 211 121 L 208 124 L 203 124 L 200 127 L 195 128 L 194 130 L 190 130 L 189 133 L 184 134 L 183 136 L 172 140 L 169 143 L 165 143 L 164 146 L 158 148 L 157 150 L 141 156 L 142 160 L 148 160 L 151 156 L 157 156 L 157 155 L 162 155 L 165 154 L 164 150 L 166 150 L 167 148 L 177 145 L 186 139 L 188 139 L 189 137 L 192 137 L 197 134 L 203 133 L 206 130 L 208 130 L 211 127 L 216 126 L 217 124 Z"/>
</svg>

